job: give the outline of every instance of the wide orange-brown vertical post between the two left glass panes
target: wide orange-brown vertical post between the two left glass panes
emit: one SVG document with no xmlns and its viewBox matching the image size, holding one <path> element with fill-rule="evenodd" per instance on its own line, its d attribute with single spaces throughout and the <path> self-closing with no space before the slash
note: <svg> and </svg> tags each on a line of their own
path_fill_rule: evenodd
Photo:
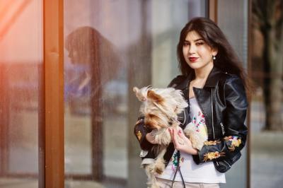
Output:
<svg viewBox="0 0 283 188">
<path fill-rule="evenodd" d="M 63 0 L 43 4 L 44 187 L 64 187 Z M 42 185 L 40 185 L 42 187 Z"/>
</svg>

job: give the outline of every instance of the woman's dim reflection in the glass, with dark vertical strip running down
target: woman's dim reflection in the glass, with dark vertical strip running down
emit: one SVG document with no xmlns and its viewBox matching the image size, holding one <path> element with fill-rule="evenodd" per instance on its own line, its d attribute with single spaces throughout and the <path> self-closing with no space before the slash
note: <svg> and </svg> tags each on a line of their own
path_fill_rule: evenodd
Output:
<svg viewBox="0 0 283 188">
<path fill-rule="evenodd" d="M 78 113 L 77 109 L 81 105 L 91 108 L 92 170 L 93 177 L 98 180 L 103 175 L 102 86 L 117 76 L 120 61 L 111 42 L 88 26 L 71 32 L 67 36 L 65 47 L 75 71 L 71 75 L 67 72 L 65 84 L 69 86 L 69 90 L 65 93 L 69 97 L 67 100 L 71 112 Z"/>
</svg>

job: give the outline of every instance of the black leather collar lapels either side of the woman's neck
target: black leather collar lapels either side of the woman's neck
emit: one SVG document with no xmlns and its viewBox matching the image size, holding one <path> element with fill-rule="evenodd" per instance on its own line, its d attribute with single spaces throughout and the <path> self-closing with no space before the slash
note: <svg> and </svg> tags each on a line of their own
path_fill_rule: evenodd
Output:
<svg viewBox="0 0 283 188">
<path fill-rule="evenodd" d="M 216 84 L 219 81 L 219 78 L 221 76 L 222 71 L 218 69 L 216 66 L 213 66 L 212 71 L 210 71 L 209 76 L 207 77 L 207 81 L 204 84 L 205 87 L 215 87 Z M 192 81 L 195 78 L 195 71 L 192 71 L 191 74 L 189 74 L 183 82 L 180 83 L 178 86 L 179 89 L 184 90 L 188 87 L 188 84 L 190 81 Z"/>
</svg>

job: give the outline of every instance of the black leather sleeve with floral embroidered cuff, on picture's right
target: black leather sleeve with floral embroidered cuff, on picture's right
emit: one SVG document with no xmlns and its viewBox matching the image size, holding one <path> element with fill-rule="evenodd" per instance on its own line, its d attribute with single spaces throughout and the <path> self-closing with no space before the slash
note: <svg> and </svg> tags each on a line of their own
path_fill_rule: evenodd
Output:
<svg viewBox="0 0 283 188">
<path fill-rule="evenodd" d="M 238 76 L 227 78 L 224 84 L 226 109 L 222 127 L 224 137 L 216 141 L 205 141 L 204 146 L 193 155 L 195 163 L 204 163 L 222 158 L 233 158 L 246 144 L 248 129 L 244 124 L 248 102 L 243 83 Z"/>
</svg>

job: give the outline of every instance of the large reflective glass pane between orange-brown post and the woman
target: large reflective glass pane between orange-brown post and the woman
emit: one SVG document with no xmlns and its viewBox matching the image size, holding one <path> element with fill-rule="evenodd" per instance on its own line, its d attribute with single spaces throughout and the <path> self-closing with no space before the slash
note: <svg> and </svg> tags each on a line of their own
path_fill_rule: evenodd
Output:
<svg viewBox="0 0 283 188">
<path fill-rule="evenodd" d="M 168 85 L 180 30 L 206 10 L 206 1 L 64 1 L 66 186 L 145 186 L 132 88 Z"/>
</svg>

